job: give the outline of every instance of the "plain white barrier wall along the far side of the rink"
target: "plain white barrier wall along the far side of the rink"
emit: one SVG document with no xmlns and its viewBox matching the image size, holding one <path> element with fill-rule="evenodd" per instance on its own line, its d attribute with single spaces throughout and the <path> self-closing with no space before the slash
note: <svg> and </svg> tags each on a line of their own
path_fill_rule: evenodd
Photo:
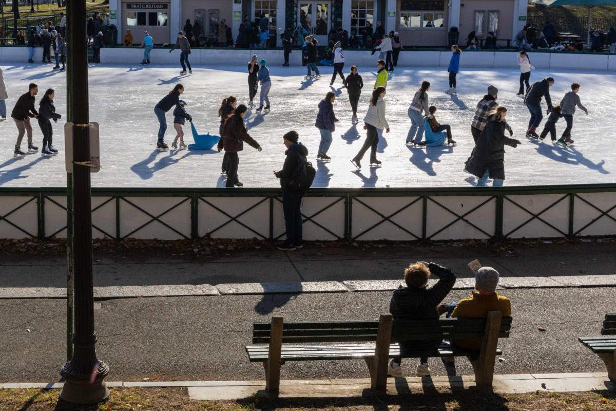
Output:
<svg viewBox="0 0 616 411">
<path fill-rule="evenodd" d="M 139 64 L 143 60 L 144 49 L 139 47 L 108 46 L 100 50 L 102 64 Z M 217 65 L 245 65 L 253 54 L 259 60 L 267 60 L 274 67 L 284 62 L 282 49 L 192 49 L 188 57 L 195 67 Z M 616 71 L 616 54 L 592 52 L 555 52 L 529 51 L 533 66 L 540 70 L 592 70 Z M 345 50 L 344 56 L 349 65 L 373 66 L 378 54 L 371 51 Z M 449 66 L 451 51 L 444 50 L 404 50 L 400 53 L 399 67 L 442 67 Z M 460 67 L 468 68 L 518 68 L 517 51 L 512 50 L 464 50 L 460 56 Z M 290 54 L 290 65 L 301 65 L 301 51 L 293 49 Z M 25 46 L 0 47 L 0 62 L 26 62 L 28 48 Z M 43 59 L 43 49 L 34 49 L 34 61 Z M 154 64 L 177 65 L 179 67 L 180 52 L 169 53 L 169 48 L 155 47 L 150 52 L 150 60 Z"/>
</svg>

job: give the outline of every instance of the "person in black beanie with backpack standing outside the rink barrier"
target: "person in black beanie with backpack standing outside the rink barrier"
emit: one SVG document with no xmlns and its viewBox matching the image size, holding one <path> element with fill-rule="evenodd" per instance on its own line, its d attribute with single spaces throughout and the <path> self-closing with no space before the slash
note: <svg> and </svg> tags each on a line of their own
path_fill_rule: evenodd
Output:
<svg viewBox="0 0 616 411">
<path fill-rule="evenodd" d="M 285 165 L 282 170 L 274 171 L 274 176 L 280 179 L 282 189 L 282 210 L 285 213 L 286 241 L 278 246 L 278 250 L 294 251 L 302 248 L 302 198 L 303 192 L 290 188 L 289 179 L 298 168 L 299 161 L 307 161 L 308 149 L 298 142 L 299 135 L 291 130 L 283 136 L 286 147 Z"/>
</svg>

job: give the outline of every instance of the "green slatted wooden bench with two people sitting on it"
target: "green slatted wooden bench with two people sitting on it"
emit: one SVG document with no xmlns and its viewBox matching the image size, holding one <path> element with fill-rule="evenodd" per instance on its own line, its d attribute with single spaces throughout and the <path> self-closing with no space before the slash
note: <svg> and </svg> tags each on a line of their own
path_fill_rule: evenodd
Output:
<svg viewBox="0 0 616 411">
<path fill-rule="evenodd" d="M 272 317 L 270 323 L 254 323 L 253 344 L 246 346 L 250 362 L 262 362 L 265 390 L 280 391 L 280 366 L 286 361 L 363 359 L 368 365 L 371 388 L 387 389 L 389 359 L 400 355 L 397 341 L 450 340 L 479 338 L 479 351 L 440 345 L 429 357 L 468 357 L 475 372 L 477 386 L 492 386 L 498 338 L 507 338 L 511 317 L 501 319 L 500 311 L 491 311 L 487 319 L 439 319 L 426 321 L 392 321 L 391 314 L 381 314 L 379 321 L 288 322 Z M 328 343 L 328 344 L 314 344 Z M 331 344 L 338 343 L 338 344 Z M 346 344 L 339 344 L 346 343 Z M 408 356 L 402 356 L 408 357 Z"/>
</svg>

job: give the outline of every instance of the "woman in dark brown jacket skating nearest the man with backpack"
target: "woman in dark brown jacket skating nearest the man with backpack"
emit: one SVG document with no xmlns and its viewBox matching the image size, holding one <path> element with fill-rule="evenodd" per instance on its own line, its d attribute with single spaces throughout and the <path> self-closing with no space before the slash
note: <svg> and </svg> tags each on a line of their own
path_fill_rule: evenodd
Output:
<svg viewBox="0 0 616 411">
<path fill-rule="evenodd" d="M 227 188 L 243 187 L 243 184 L 241 184 L 237 176 L 237 168 L 240 164 L 238 152 L 244 149 L 244 142 L 261 151 L 261 145 L 248 134 L 246 124 L 244 124 L 246 110 L 248 110 L 248 108 L 243 104 L 238 105 L 237 108 L 233 110 L 233 113 L 229 116 L 222 128 L 221 139 L 218 142 L 218 152 L 224 149 L 229 159 L 227 184 L 225 184 Z"/>
</svg>

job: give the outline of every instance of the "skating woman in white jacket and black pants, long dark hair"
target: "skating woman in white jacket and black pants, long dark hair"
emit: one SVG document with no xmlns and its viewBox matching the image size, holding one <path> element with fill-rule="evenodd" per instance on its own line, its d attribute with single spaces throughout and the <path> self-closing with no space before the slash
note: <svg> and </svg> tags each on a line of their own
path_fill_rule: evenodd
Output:
<svg viewBox="0 0 616 411">
<path fill-rule="evenodd" d="M 363 122 L 365 123 L 363 129 L 366 130 L 366 140 L 363 142 L 362 149 L 359 150 L 359 153 L 351 160 L 351 163 L 353 163 L 357 169 L 362 168 L 362 163 L 360 161 L 368 149 L 370 149 L 370 165 L 381 165 L 381 161 L 376 160 L 376 146 L 379 144 L 377 129 L 385 129 L 386 132 L 389 132 L 389 124 L 387 124 L 385 118 L 385 100 L 383 100 L 385 94 L 385 87 L 376 87 L 372 92 L 370 104 L 368 104 L 368 113 L 363 118 Z"/>
</svg>

